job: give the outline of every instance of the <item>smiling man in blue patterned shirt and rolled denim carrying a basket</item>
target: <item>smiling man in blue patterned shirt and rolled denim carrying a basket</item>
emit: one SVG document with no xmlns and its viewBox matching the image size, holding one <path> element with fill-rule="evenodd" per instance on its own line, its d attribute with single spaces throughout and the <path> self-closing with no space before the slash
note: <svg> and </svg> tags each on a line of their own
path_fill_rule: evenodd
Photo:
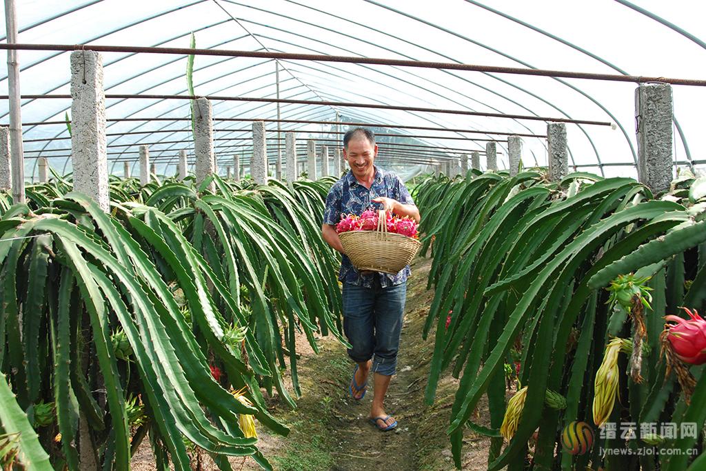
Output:
<svg viewBox="0 0 706 471">
<path fill-rule="evenodd" d="M 350 171 L 328 193 L 321 234 L 342 254 L 338 279 L 343 283 L 343 329 L 352 345 L 349 357 L 357 363 L 349 393 L 361 400 L 372 371 L 375 393 L 369 420 L 378 429 L 388 431 L 397 426 L 397 421 L 385 412 L 383 400 L 397 366 L 409 266 L 396 275 L 360 272 L 346 256 L 335 230 L 342 214 L 360 215 L 369 207 L 411 216 L 419 222 L 419 210 L 400 177 L 373 165 L 377 155 L 375 135 L 369 129 L 355 128 L 345 133 L 343 156 Z"/>
</svg>

